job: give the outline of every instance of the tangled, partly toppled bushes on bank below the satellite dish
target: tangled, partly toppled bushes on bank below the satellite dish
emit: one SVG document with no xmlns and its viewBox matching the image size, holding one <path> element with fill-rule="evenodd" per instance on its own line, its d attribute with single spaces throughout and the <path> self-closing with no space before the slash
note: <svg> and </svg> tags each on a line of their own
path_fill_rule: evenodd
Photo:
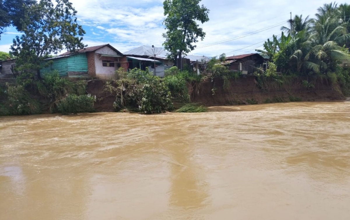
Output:
<svg viewBox="0 0 350 220">
<path fill-rule="evenodd" d="M 175 102 L 189 103 L 193 83 L 200 81 L 198 76 L 179 71 L 176 67 L 166 72 L 160 79 L 149 72 L 133 69 L 125 72 L 119 69 L 116 80 L 105 83 L 105 92 L 113 94 L 113 103 L 117 112 L 141 112 L 146 114 L 173 111 Z"/>
</svg>

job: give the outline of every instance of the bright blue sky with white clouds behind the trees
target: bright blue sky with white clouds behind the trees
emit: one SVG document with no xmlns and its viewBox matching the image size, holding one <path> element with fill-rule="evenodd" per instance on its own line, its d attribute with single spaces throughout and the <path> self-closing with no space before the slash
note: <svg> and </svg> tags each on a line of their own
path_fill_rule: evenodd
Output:
<svg viewBox="0 0 350 220">
<path fill-rule="evenodd" d="M 71 2 L 78 11 L 79 24 L 86 31 L 84 43 L 88 46 L 110 43 L 121 52 L 141 45 L 162 47 L 162 33 L 165 32 L 162 25 L 163 0 Z M 190 52 L 190 55 L 217 56 L 226 53 L 227 56 L 233 56 L 253 53 L 255 49 L 261 48 L 267 38 L 281 33 L 280 27 L 288 25 L 286 21 L 290 11 L 293 16 L 302 14 L 303 17 L 314 17 L 317 8 L 324 3 L 330 2 L 202 0 L 201 4 L 210 9 L 210 21 L 201 24 L 207 36 L 204 41 L 197 43 L 198 49 Z M 262 31 L 246 36 L 258 30 Z M 7 33 L 1 36 L 0 51 L 9 51 L 16 35 L 19 33 L 14 28 L 8 28 Z M 226 40 L 229 41 L 221 42 Z M 216 42 L 221 43 L 213 44 Z"/>
</svg>

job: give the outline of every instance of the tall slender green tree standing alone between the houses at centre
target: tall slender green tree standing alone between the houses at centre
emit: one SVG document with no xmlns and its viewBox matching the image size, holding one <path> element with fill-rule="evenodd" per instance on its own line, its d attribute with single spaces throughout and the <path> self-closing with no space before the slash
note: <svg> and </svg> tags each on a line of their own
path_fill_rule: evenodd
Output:
<svg viewBox="0 0 350 220">
<path fill-rule="evenodd" d="M 182 54 L 189 53 L 196 48 L 198 38 L 205 37 L 205 32 L 197 21 L 209 21 L 209 9 L 199 5 L 202 0 L 165 0 L 163 2 L 164 15 L 167 16 L 163 24 L 166 33 L 163 34 L 163 46 L 170 52 L 169 57 L 178 60 L 181 69 Z"/>
</svg>

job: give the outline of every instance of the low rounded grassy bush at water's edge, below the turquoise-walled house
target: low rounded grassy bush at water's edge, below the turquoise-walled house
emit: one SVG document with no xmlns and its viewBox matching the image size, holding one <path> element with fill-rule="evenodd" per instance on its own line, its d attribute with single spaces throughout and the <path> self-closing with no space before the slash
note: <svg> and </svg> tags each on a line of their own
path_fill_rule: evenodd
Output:
<svg viewBox="0 0 350 220">
<path fill-rule="evenodd" d="M 95 96 L 69 94 L 57 101 L 57 110 L 64 115 L 70 113 L 95 112 L 93 108 L 95 101 Z"/>
</svg>

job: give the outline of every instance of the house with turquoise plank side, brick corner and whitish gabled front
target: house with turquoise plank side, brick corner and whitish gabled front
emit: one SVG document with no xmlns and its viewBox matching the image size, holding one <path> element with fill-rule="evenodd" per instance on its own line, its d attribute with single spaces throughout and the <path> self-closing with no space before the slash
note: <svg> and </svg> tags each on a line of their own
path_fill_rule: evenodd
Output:
<svg viewBox="0 0 350 220">
<path fill-rule="evenodd" d="M 61 77 L 97 77 L 114 78 L 120 67 L 127 69 L 123 54 L 110 44 L 80 49 L 75 53 L 65 52 L 57 57 L 48 58 L 49 66 L 42 73 L 57 70 Z"/>
</svg>

